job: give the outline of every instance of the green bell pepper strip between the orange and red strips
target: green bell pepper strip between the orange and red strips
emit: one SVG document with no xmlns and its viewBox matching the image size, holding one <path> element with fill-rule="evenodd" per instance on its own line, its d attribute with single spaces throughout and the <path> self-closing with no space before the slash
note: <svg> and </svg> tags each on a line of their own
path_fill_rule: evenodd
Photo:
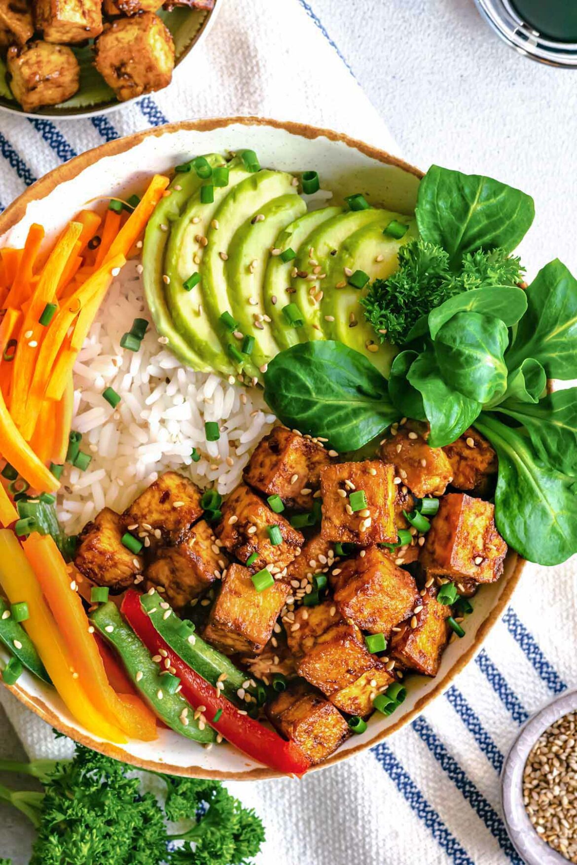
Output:
<svg viewBox="0 0 577 865">
<path fill-rule="evenodd" d="M 183 709 L 189 708 L 189 703 L 165 687 L 169 680 L 166 674 L 162 674 L 162 667 L 152 660 L 149 651 L 126 625 L 112 601 L 97 607 L 90 618 L 99 634 L 118 652 L 131 682 L 168 727 L 202 744 L 215 741 L 215 731 L 208 724 L 201 730 L 198 721 L 193 720 L 192 712 L 183 713 Z"/>
</svg>

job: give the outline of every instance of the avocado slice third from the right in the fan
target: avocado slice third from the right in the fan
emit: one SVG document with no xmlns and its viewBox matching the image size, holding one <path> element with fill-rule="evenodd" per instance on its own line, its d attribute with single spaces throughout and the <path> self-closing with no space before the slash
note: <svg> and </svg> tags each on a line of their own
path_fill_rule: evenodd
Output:
<svg viewBox="0 0 577 865">
<path fill-rule="evenodd" d="M 287 226 L 274 241 L 274 246 L 284 253 L 287 249 L 298 253 L 306 239 L 319 225 L 343 213 L 343 208 L 331 207 L 313 210 Z M 307 247 L 308 248 L 308 247 Z M 287 327 L 283 307 L 290 304 L 293 298 L 291 273 L 295 259 L 283 261 L 279 255 L 272 255 L 266 266 L 265 284 L 263 286 L 265 313 L 271 319 L 272 336 L 279 349 L 289 349 L 298 343 L 298 335 L 294 328 Z M 287 292 L 287 289 L 289 291 Z"/>
</svg>

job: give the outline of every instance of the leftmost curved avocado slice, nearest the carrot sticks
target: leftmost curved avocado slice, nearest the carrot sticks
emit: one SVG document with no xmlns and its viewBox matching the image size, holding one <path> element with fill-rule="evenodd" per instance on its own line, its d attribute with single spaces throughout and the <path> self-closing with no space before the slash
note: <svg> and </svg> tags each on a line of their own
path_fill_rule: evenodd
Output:
<svg viewBox="0 0 577 865">
<path fill-rule="evenodd" d="M 209 153 L 205 159 L 213 168 L 224 165 L 225 160 L 218 153 Z M 176 330 L 170 312 L 170 301 L 167 302 L 163 275 L 165 275 L 165 253 L 169 243 L 171 227 L 183 212 L 190 195 L 203 183 L 195 170 L 176 174 L 166 195 L 158 202 L 151 215 L 144 234 L 142 264 L 144 267 L 143 281 L 146 302 L 151 310 L 152 320 L 161 336 L 166 336 L 170 349 L 187 366 L 210 370 L 210 364 L 202 360 L 191 348 L 189 343 Z"/>
</svg>

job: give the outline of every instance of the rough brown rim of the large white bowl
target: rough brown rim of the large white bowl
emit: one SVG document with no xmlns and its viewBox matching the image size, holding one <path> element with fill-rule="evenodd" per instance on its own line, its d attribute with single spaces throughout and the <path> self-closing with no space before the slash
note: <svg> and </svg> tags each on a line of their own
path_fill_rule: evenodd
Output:
<svg viewBox="0 0 577 865">
<path fill-rule="evenodd" d="M 25 189 L 22 192 L 22 195 L 19 195 L 15 201 L 3 211 L 3 214 L 0 215 L 0 239 L 3 234 L 22 220 L 29 202 L 45 198 L 61 183 L 65 183 L 66 181 L 78 176 L 80 172 L 85 170 L 88 166 L 93 165 L 93 163 L 98 162 L 101 158 L 115 156 L 119 153 L 131 150 L 132 147 L 140 144 L 144 138 L 150 138 L 151 136 L 160 137 L 167 133 L 170 134 L 176 131 L 211 131 L 230 125 L 268 126 L 273 129 L 287 131 L 293 136 L 308 138 L 310 140 L 315 138 L 328 138 L 330 141 L 345 144 L 350 149 L 359 151 L 363 155 L 375 159 L 377 162 L 396 166 L 419 179 L 423 176 L 423 172 L 420 169 L 415 168 L 404 160 L 391 156 L 386 151 L 382 151 L 371 144 L 366 144 L 357 138 L 350 138 L 343 132 L 332 131 L 288 120 L 274 120 L 250 115 L 184 120 L 163 126 L 156 126 L 145 131 L 135 132 L 125 138 L 116 138 L 112 141 L 106 142 L 106 144 L 100 144 L 99 147 L 95 147 L 91 151 L 82 153 L 71 159 L 69 162 L 63 163 L 54 170 L 48 172 L 47 175 L 41 177 L 29 186 L 28 189 Z M 484 639 L 491 628 L 497 623 L 499 618 L 501 618 L 503 611 L 508 605 L 510 597 L 521 577 L 526 561 L 514 551 L 510 551 L 509 556 L 514 560 L 511 565 L 511 573 L 506 586 L 497 598 L 497 603 L 490 609 L 490 612 L 488 612 L 484 620 L 478 625 L 478 629 L 475 632 L 469 648 L 465 650 L 463 655 L 461 655 L 455 663 L 453 663 L 451 669 L 448 670 L 446 675 L 436 683 L 435 687 L 417 700 L 414 707 L 406 714 L 403 714 L 399 721 L 386 727 L 384 730 L 381 730 L 381 732 L 375 734 L 375 736 L 368 741 L 359 742 L 357 746 L 349 747 L 346 751 L 338 750 L 336 753 L 332 754 L 329 759 L 320 763 L 318 766 L 311 766 L 309 772 L 324 769 L 327 766 L 334 766 L 343 759 L 349 759 L 349 757 L 352 757 L 354 754 L 366 751 L 367 749 L 377 745 L 389 735 L 400 730 L 401 727 L 405 727 L 410 721 L 413 721 L 414 718 L 429 705 L 429 703 L 433 702 L 436 697 L 441 695 L 442 692 L 451 685 L 453 679 L 465 669 L 465 666 L 470 663 L 472 658 L 481 650 Z M 9 687 L 9 690 L 18 700 L 20 700 L 20 702 L 24 704 L 24 706 L 31 709 L 35 714 L 39 715 L 43 721 L 46 721 L 52 727 L 55 727 L 60 733 L 67 735 L 74 741 L 80 742 L 81 745 L 93 748 L 95 751 L 99 751 L 100 753 L 106 754 L 106 756 L 129 763 L 131 766 L 137 768 L 157 771 L 159 766 L 161 766 L 163 772 L 174 775 L 235 781 L 285 778 L 285 775 L 283 775 L 282 772 L 275 772 L 265 766 L 255 767 L 248 772 L 223 772 L 216 770 L 208 771 L 201 766 L 171 766 L 168 763 L 162 762 L 159 764 L 155 760 L 143 759 L 134 754 L 125 752 L 123 749 L 112 745 L 110 742 L 93 740 L 90 734 L 81 733 L 76 727 L 70 727 L 67 722 L 63 721 L 57 714 L 55 714 L 54 710 L 49 708 L 40 697 L 29 695 L 29 693 L 19 685 L 16 684 Z"/>
</svg>

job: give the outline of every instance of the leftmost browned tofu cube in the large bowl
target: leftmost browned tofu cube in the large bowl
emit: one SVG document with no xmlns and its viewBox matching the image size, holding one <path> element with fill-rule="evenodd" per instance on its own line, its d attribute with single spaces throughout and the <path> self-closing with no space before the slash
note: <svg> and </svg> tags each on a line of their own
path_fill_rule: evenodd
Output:
<svg viewBox="0 0 577 865">
<path fill-rule="evenodd" d="M 80 573 L 99 586 L 120 591 L 142 573 L 142 557 L 127 549 L 121 541 L 122 518 L 110 508 L 101 510 L 93 522 L 80 532 L 74 565 Z"/>
</svg>

